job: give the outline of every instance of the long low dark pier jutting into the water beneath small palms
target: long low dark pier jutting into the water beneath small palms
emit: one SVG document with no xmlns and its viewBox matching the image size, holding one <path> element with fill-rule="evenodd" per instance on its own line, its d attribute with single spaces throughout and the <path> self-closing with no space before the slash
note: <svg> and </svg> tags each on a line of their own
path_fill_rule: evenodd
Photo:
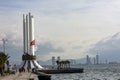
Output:
<svg viewBox="0 0 120 80">
<path fill-rule="evenodd" d="M 62 73 L 83 73 L 83 68 L 67 68 L 67 69 L 46 69 L 46 70 L 37 70 L 36 73 L 39 72 L 45 74 L 62 74 Z"/>
</svg>

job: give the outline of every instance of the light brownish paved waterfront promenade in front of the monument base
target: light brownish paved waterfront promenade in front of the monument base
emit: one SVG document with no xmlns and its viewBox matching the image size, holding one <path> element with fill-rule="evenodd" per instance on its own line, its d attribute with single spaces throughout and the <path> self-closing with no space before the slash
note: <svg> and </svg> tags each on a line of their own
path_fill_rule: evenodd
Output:
<svg viewBox="0 0 120 80">
<path fill-rule="evenodd" d="M 34 78 L 34 80 L 38 80 L 37 75 L 30 73 L 30 72 L 24 72 L 24 73 L 19 73 L 17 72 L 15 75 L 11 74 L 5 77 L 0 77 L 0 80 L 29 80 L 29 79 Z"/>
</svg>

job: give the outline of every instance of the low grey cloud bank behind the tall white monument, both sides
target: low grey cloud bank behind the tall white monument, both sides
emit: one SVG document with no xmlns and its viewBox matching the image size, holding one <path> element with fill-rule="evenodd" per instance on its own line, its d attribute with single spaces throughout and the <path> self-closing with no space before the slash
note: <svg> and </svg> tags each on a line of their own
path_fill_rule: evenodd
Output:
<svg viewBox="0 0 120 80">
<path fill-rule="evenodd" d="M 1 40 L 5 39 L 6 44 L 5 44 L 5 52 L 10 55 L 10 61 L 22 61 L 22 54 L 23 54 L 23 40 L 22 36 L 16 34 L 16 33 L 11 33 L 9 35 L 0 35 Z M 53 41 L 47 41 L 47 42 L 40 42 L 37 43 L 37 52 L 36 55 L 41 60 L 41 55 L 48 56 L 51 53 L 62 53 L 64 52 L 64 48 L 61 46 L 58 46 L 55 44 Z M 0 41 L 0 51 L 3 51 L 3 42 Z M 46 60 L 47 58 L 44 58 Z"/>
</svg>

